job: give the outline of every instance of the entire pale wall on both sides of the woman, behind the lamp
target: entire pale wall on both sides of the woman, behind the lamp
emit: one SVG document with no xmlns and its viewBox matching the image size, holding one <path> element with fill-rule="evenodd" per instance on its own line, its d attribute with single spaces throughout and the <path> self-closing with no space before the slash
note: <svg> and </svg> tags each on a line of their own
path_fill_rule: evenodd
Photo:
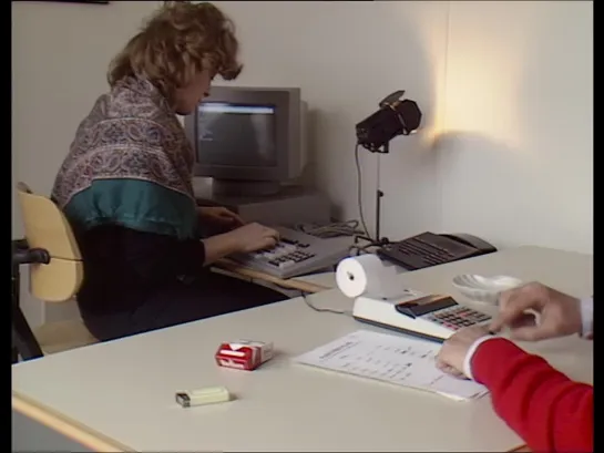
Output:
<svg viewBox="0 0 604 453">
<path fill-rule="evenodd" d="M 158 3 L 12 3 L 13 179 L 49 193 L 110 59 Z M 591 2 L 216 4 L 238 28 L 238 84 L 301 87 L 314 177 L 342 217 L 358 217 L 355 124 L 402 89 L 424 128 L 380 158 L 383 235 L 461 230 L 591 251 Z M 361 152 L 361 164 L 372 229 L 377 156 Z M 24 308 L 43 318 L 39 303 Z"/>
</svg>

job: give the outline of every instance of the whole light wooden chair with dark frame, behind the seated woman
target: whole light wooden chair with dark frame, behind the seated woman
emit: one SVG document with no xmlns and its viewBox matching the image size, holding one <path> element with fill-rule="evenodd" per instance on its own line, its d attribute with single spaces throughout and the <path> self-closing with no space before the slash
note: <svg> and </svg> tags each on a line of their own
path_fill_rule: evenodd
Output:
<svg viewBox="0 0 604 453">
<path fill-rule="evenodd" d="M 72 300 L 82 285 L 84 265 L 75 237 L 61 209 L 48 197 L 17 185 L 25 238 L 13 241 L 13 361 L 41 357 L 96 342 L 81 320 L 50 322 L 33 332 L 19 307 L 19 267 L 28 265 L 30 292 L 45 302 Z"/>
</svg>

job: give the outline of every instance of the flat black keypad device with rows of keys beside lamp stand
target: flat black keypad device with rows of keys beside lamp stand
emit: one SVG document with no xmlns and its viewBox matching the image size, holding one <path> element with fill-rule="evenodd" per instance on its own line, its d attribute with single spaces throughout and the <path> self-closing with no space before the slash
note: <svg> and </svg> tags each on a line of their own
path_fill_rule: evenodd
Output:
<svg viewBox="0 0 604 453">
<path fill-rule="evenodd" d="M 378 255 L 408 270 L 417 270 L 470 258 L 477 251 L 474 247 L 427 231 L 399 243 L 386 244 Z"/>
</svg>

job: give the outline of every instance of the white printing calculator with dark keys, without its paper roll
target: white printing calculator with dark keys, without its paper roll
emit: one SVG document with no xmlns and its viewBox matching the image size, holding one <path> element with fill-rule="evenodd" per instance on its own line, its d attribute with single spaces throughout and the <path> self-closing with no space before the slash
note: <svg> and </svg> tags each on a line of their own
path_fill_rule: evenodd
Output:
<svg viewBox="0 0 604 453">
<path fill-rule="evenodd" d="M 458 303 L 450 296 L 413 295 L 399 299 L 358 297 L 355 319 L 413 337 L 442 342 L 457 330 L 485 325 L 491 317 Z"/>
</svg>

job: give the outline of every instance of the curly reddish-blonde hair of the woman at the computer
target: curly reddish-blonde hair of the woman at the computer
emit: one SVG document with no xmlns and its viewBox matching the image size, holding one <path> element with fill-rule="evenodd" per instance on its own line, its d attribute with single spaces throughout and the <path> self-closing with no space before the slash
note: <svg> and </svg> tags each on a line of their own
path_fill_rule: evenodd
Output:
<svg viewBox="0 0 604 453">
<path fill-rule="evenodd" d="M 202 70 L 235 79 L 239 43 L 235 25 L 209 2 L 166 1 L 112 61 L 113 86 L 127 76 L 143 76 L 173 101 L 174 91 Z"/>
</svg>

